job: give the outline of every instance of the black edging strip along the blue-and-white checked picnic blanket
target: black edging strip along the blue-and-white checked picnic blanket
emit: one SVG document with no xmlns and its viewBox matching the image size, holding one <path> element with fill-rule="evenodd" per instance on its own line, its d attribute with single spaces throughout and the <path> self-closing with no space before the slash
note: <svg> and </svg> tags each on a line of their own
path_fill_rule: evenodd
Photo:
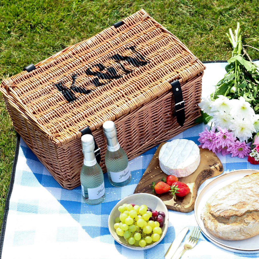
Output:
<svg viewBox="0 0 259 259">
<path fill-rule="evenodd" d="M 253 59 L 252 61 L 257 61 L 259 59 Z M 210 61 L 203 61 L 202 63 L 225 63 L 227 60 L 210 60 Z M 15 156 L 13 159 L 13 166 L 12 166 L 12 172 L 11 172 L 11 179 L 9 184 L 8 193 L 5 199 L 5 208 L 4 208 L 4 215 L 3 215 L 3 222 L 2 222 L 2 228 L 0 233 L 0 259 L 2 258 L 2 251 L 3 251 L 3 244 L 4 244 L 4 234 L 5 234 L 5 228 L 6 228 L 6 221 L 9 211 L 9 202 L 13 190 L 13 183 L 15 181 L 15 171 L 16 171 L 16 164 L 18 160 L 19 155 L 19 148 L 20 148 L 20 135 L 16 133 L 16 146 L 15 146 Z"/>
</svg>

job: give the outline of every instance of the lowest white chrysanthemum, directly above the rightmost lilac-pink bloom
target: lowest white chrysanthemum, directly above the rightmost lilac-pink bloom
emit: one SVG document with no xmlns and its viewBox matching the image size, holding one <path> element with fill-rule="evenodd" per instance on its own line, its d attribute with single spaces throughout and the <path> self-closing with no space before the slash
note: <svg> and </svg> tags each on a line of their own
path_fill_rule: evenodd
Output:
<svg viewBox="0 0 259 259">
<path fill-rule="evenodd" d="M 247 142 L 249 138 L 252 138 L 252 133 L 255 132 L 252 121 L 248 119 L 231 120 L 231 125 L 229 126 L 229 129 L 232 130 L 232 132 L 234 133 L 233 136 L 235 138 L 238 138 L 240 142 Z"/>
</svg>

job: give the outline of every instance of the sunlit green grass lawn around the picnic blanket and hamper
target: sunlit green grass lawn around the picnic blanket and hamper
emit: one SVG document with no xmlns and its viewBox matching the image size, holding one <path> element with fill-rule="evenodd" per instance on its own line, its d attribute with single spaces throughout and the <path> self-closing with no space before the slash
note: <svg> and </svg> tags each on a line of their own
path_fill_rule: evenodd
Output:
<svg viewBox="0 0 259 259">
<path fill-rule="evenodd" d="M 259 48 L 259 1 L 204 0 L 2 0 L 0 2 L 0 80 L 30 63 L 61 51 L 144 9 L 175 34 L 202 61 L 227 60 L 226 37 L 240 22 L 243 44 Z M 251 58 L 259 52 L 248 49 Z M 15 131 L 0 95 L 0 225 L 15 150 Z"/>
</svg>

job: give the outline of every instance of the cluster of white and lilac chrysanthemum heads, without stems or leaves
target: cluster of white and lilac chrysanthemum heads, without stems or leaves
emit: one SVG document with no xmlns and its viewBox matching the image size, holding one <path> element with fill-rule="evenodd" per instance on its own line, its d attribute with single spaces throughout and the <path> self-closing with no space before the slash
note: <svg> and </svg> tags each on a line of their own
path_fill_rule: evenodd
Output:
<svg viewBox="0 0 259 259">
<path fill-rule="evenodd" d="M 248 156 L 251 151 L 248 140 L 259 131 L 259 114 L 255 114 L 250 104 L 242 96 L 228 99 L 221 95 L 214 101 L 202 98 L 199 106 L 217 125 L 217 131 L 212 127 L 199 133 L 199 146 L 222 155 Z"/>
</svg>

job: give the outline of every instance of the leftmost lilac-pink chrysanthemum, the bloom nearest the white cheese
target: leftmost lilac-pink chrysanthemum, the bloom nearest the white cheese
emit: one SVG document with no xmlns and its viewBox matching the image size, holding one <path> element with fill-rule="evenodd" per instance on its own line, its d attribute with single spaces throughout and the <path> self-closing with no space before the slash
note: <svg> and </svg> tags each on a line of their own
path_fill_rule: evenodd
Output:
<svg viewBox="0 0 259 259">
<path fill-rule="evenodd" d="M 216 148 L 218 148 L 215 128 L 213 127 L 212 130 L 208 130 L 205 128 L 205 130 L 201 133 L 199 133 L 198 141 L 202 144 L 199 145 L 199 147 L 207 148 L 209 150 L 212 150 L 212 152 L 215 152 Z"/>
</svg>

